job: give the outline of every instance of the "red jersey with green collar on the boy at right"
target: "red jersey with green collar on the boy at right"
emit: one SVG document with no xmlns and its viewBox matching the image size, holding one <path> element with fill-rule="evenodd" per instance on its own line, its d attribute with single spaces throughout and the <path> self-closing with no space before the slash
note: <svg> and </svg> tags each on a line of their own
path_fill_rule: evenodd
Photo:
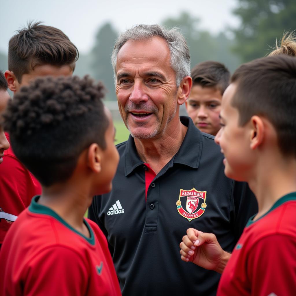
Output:
<svg viewBox="0 0 296 296">
<path fill-rule="evenodd" d="M 296 192 L 252 218 L 234 248 L 217 295 L 295 295 Z"/>
</svg>

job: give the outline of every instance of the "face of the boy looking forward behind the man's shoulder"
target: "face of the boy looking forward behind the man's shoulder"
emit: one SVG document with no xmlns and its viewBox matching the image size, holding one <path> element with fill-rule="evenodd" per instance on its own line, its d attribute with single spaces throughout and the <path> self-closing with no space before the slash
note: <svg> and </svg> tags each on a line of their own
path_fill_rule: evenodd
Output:
<svg viewBox="0 0 296 296">
<path fill-rule="evenodd" d="M 194 85 L 185 102 L 188 115 L 195 126 L 215 136 L 220 129 L 221 91 L 212 87 Z"/>
</svg>

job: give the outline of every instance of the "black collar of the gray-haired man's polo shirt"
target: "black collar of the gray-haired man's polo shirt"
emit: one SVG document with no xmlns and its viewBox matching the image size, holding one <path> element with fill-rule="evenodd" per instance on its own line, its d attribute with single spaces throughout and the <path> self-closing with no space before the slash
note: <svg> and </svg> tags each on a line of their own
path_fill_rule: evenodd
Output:
<svg viewBox="0 0 296 296">
<path fill-rule="evenodd" d="M 180 116 L 181 123 L 187 126 L 187 132 L 179 151 L 173 156 L 173 163 L 198 168 L 202 151 L 202 133 L 194 126 L 188 116 Z M 169 162 L 171 163 L 171 162 Z M 125 176 L 128 176 L 138 166 L 143 165 L 133 137 L 130 135 L 125 148 Z"/>
</svg>

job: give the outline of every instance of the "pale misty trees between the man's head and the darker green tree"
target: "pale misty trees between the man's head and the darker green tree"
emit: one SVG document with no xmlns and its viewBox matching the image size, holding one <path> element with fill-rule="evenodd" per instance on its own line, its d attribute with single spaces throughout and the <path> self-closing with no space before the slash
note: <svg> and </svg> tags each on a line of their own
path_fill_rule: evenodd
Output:
<svg viewBox="0 0 296 296">
<path fill-rule="evenodd" d="M 234 41 L 221 32 L 214 36 L 199 28 L 200 19 L 181 12 L 177 18 L 167 18 L 162 22 L 167 28 L 178 27 L 184 34 L 190 51 L 191 67 L 197 63 L 214 60 L 221 62 L 233 72 L 239 65 L 239 58 L 231 52 Z"/>
</svg>

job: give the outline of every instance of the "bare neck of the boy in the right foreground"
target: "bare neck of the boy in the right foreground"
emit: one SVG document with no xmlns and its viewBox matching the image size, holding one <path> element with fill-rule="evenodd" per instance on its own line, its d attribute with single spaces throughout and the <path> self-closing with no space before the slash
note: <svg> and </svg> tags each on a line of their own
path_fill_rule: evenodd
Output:
<svg viewBox="0 0 296 296">
<path fill-rule="evenodd" d="M 258 201 L 254 220 L 267 213 L 281 197 L 296 192 L 296 159 L 273 155 L 265 160 L 258 162 L 256 173 L 248 181 Z"/>
</svg>

